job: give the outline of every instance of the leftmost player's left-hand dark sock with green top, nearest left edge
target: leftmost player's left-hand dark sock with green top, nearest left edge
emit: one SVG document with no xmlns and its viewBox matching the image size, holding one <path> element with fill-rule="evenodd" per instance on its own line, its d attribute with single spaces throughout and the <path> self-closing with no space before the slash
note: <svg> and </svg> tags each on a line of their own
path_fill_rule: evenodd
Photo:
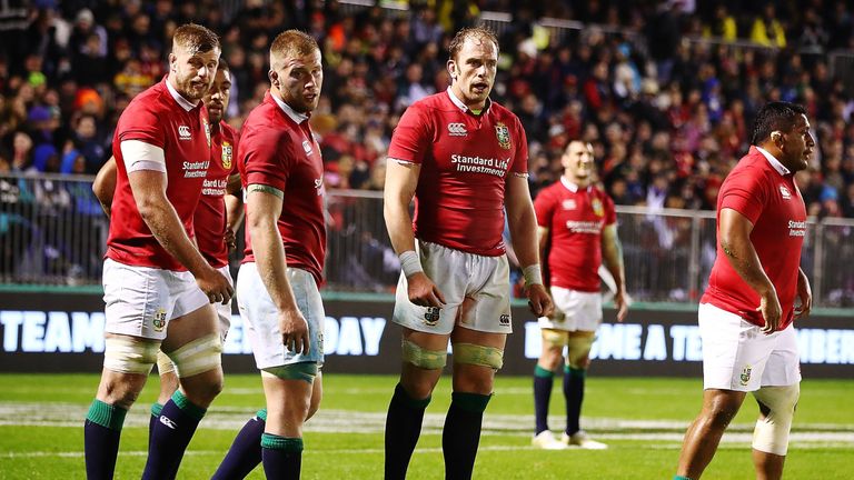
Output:
<svg viewBox="0 0 854 480">
<path fill-rule="evenodd" d="M 86 477 L 88 479 L 111 479 L 119 454 L 119 440 L 125 416 L 121 407 L 93 400 L 83 422 L 86 450 Z"/>
</svg>

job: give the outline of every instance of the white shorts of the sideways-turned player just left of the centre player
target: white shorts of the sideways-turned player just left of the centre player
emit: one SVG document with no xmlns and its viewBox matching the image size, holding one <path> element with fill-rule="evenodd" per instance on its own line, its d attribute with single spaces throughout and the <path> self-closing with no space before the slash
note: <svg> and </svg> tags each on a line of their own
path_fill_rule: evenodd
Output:
<svg viewBox="0 0 854 480">
<path fill-rule="evenodd" d="M 259 370 L 292 363 L 324 363 L 324 302 L 311 273 L 287 269 L 297 308 L 308 322 L 309 352 L 296 354 L 285 348 L 278 309 L 272 303 L 255 262 L 244 263 L 237 274 L 237 308 L 244 321 Z"/>
</svg>

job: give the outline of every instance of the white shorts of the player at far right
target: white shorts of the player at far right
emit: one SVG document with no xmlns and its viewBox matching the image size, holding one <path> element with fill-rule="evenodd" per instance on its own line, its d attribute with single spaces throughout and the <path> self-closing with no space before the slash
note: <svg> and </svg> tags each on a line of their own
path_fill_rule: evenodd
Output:
<svg viewBox="0 0 854 480">
<path fill-rule="evenodd" d="M 699 306 L 703 388 L 756 391 L 801 381 L 794 324 L 771 334 L 711 303 Z"/>
</svg>

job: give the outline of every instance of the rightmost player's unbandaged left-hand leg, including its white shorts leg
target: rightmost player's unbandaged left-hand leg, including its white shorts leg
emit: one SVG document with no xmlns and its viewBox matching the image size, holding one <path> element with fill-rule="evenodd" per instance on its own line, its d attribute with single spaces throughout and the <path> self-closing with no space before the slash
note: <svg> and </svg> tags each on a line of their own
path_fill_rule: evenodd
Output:
<svg viewBox="0 0 854 480">
<path fill-rule="evenodd" d="M 703 408 L 688 427 L 677 474 L 698 479 L 738 412 L 747 391 L 761 386 L 765 364 L 776 343 L 734 313 L 708 303 L 699 306 L 703 341 Z"/>
</svg>

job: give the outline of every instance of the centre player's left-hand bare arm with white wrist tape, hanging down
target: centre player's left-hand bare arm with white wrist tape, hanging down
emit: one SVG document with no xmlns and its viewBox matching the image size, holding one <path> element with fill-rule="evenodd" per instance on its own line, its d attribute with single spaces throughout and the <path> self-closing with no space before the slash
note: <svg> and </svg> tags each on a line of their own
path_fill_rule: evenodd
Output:
<svg viewBox="0 0 854 480">
<path fill-rule="evenodd" d="M 441 307 L 445 297 L 424 273 L 421 260 L 415 251 L 415 233 L 409 203 L 418 187 L 421 167 L 415 163 L 388 159 L 386 188 L 383 193 L 383 216 L 386 219 L 391 247 L 400 257 L 400 266 L 408 283 L 409 301 L 421 307 Z"/>
</svg>

